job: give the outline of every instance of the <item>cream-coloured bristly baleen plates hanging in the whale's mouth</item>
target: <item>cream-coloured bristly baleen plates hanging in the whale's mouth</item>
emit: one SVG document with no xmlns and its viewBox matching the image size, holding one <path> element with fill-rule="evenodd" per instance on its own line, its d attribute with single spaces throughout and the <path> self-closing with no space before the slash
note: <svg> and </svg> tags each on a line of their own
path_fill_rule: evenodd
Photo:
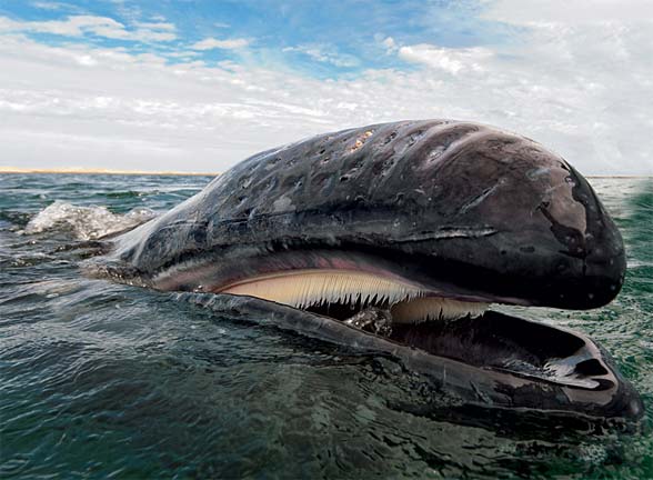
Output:
<svg viewBox="0 0 653 480">
<path fill-rule="evenodd" d="M 257 297 L 328 314 L 338 310 L 332 306 L 340 306 L 348 313 L 382 307 L 390 310 L 393 323 L 475 318 L 490 306 L 442 297 L 401 278 L 333 269 L 281 271 L 248 278 L 217 288 L 214 292 Z"/>
</svg>

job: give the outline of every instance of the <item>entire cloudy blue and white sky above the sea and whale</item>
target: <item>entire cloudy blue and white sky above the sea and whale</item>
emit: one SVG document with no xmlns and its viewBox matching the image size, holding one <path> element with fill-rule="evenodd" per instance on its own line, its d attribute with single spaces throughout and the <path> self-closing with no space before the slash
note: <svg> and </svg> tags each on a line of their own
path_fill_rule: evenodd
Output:
<svg viewBox="0 0 653 480">
<path fill-rule="evenodd" d="M 0 167 L 219 172 L 430 118 L 653 174 L 653 1 L 0 0 Z"/>
</svg>

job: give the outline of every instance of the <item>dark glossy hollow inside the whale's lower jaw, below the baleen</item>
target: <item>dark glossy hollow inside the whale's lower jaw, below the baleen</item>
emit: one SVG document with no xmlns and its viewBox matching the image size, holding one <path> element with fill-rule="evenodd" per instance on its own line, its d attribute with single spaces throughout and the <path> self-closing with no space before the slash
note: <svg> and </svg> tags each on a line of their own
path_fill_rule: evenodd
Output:
<svg viewBox="0 0 653 480">
<path fill-rule="evenodd" d="M 587 339 L 496 311 L 451 322 L 399 324 L 390 338 L 523 379 L 584 390 L 607 390 L 616 383 L 599 349 Z"/>
</svg>

